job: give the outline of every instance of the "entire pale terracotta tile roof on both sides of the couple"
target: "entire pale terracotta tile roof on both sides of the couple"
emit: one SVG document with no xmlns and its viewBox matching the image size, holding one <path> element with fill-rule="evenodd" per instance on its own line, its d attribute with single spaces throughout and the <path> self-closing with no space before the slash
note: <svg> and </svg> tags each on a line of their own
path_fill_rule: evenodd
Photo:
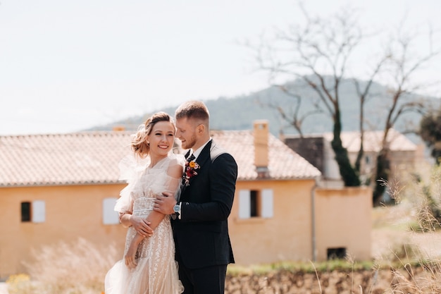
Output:
<svg viewBox="0 0 441 294">
<path fill-rule="evenodd" d="M 118 162 L 130 153 L 126 131 L 0 136 L 0 187 L 120 183 Z M 236 159 L 239 180 L 255 180 L 251 130 L 213 131 L 213 138 Z M 273 179 L 315 178 L 320 171 L 270 135 Z"/>
</svg>

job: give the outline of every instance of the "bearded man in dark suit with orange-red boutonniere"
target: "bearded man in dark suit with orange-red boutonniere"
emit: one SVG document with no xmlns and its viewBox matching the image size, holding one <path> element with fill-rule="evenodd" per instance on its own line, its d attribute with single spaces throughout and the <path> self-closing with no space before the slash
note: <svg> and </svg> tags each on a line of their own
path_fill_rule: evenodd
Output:
<svg viewBox="0 0 441 294">
<path fill-rule="evenodd" d="M 172 214 L 175 258 L 184 294 L 223 294 L 227 265 L 234 263 L 228 216 L 237 179 L 235 159 L 210 137 L 209 110 L 185 102 L 175 113 L 176 137 L 190 164 L 182 178 L 180 200 L 159 196 L 154 210 Z M 193 159 L 194 156 L 194 159 Z"/>
</svg>

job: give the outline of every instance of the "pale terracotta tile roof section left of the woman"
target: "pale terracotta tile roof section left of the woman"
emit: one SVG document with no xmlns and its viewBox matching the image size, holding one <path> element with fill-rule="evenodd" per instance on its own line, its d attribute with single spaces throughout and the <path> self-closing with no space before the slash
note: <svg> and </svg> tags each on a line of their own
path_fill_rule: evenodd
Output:
<svg viewBox="0 0 441 294">
<path fill-rule="evenodd" d="M 0 136 L 0 186 L 117 183 L 125 132 Z"/>
</svg>

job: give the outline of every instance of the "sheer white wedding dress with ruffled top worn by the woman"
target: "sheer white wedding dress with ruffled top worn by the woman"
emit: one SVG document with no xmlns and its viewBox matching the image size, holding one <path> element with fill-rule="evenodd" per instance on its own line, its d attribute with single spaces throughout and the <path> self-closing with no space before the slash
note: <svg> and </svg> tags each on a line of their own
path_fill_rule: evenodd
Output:
<svg viewBox="0 0 441 294">
<path fill-rule="evenodd" d="M 170 191 L 178 195 L 182 179 L 168 176 L 167 170 L 176 164 L 183 169 L 185 158 L 180 154 L 170 154 L 153 167 L 149 164 L 149 158 L 143 164 L 136 163 L 132 157 L 125 157 L 120 162 L 121 178 L 128 180 L 128 185 L 120 192 L 116 211 L 131 212 L 134 216 L 145 218 L 153 209 L 156 194 Z M 135 235 L 135 229 L 128 228 L 123 256 Z M 170 216 L 166 215 L 154 234 L 139 243 L 135 258 L 135 269 L 126 267 L 123 258 L 108 271 L 104 282 L 106 294 L 182 293 L 184 288 L 178 278 Z"/>
</svg>

